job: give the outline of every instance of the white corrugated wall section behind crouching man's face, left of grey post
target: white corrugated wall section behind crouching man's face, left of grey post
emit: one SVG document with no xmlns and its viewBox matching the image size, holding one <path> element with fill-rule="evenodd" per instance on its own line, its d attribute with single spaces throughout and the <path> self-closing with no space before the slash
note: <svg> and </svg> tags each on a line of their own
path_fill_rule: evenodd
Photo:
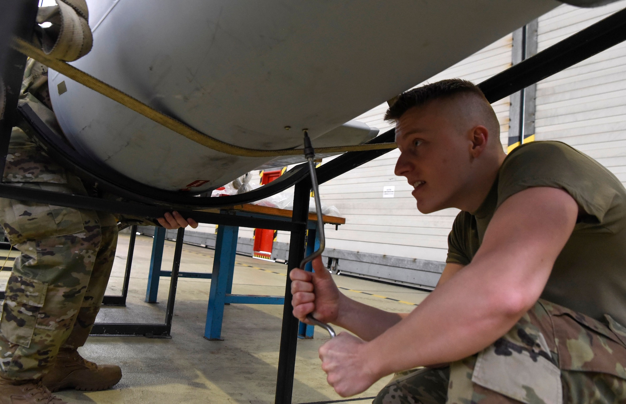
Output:
<svg viewBox="0 0 626 404">
<path fill-rule="evenodd" d="M 464 78 L 480 83 L 511 66 L 511 35 L 496 41 L 467 59 L 437 74 L 428 82 Z M 387 104 L 355 118 L 370 126 L 391 129 L 382 120 Z M 501 123 L 501 141 L 508 141 L 508 98 L 494 104 Z M 423 215 L 411 196 L 413 187 L 394 175 L 398 158 L 394 150 L 321 186 L 322 200 L 339 208 L 346 225 L 326 231 L 328 248 L 379 255 L 444 261 L 448 233 L 458 210 Z M 394 186 L 394 198 L 382 198 L 384 186 Z"/>
</svg>

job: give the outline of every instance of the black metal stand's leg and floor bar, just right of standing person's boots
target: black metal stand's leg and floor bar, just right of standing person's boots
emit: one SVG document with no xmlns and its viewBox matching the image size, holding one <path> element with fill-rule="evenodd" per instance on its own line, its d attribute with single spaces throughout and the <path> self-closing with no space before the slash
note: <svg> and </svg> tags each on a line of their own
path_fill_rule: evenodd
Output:
<svg viewBox="0 0 626 404">
<path fill-rule="evenodd" d="M 134 234 L 134 233 L 133 233 Z M 96 323 L 91 329 L 91 335 L 144 335 L 148 338 L 172 338 L 172 318 L 174 315 L 174 302 L 176 300 L 176 287 L 178 285 L 178 270 L 180 257 L 183 252 L 183 238 L 185 229 L 178 229 L 176 246 L 174 248 L 174 262 L 172 264 L 172 278 L 170 278 L 170 293 L 165 308 L 164 324 L 126 324 L 126 323 Z M 127 273 L 128 263 L 126 265 Z"/>
</svg>

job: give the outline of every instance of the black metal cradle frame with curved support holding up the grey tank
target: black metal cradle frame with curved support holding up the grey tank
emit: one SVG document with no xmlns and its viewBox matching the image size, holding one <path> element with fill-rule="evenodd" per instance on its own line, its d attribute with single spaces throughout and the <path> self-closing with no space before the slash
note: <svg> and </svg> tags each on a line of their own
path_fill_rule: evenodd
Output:
<svg viewBox="0 0 626 404">
<path fill-rule="evenodd" d="M 24 0 L 25 1 L 25 0 Z M 29 21 L 33 21 L 34 18 L 23 18 L 21 23 L 28 25 Z M 26 36 L 28 38 L 28 36 Z M 615 44 L 618 44 L 626 39 L 626 10 L 618 11 L 617 13 L 609 16 L 608 18 L 593 24 L 592 26 L 583 29 L 577 34 L 574 34 L 570 38 L 564 39 L 560 43 L 545 49 L 541 53 L 526 59 L 525 61 L 516 64 L 515 66 L 503 71 L 500 74 L 496 74 L 493 78 L 490 78 L 483 83 L 479 84 L 480 88 L 485 93 L 486 98 L 493 103 L 498 99 L 504 98 L 510 94 L 526 88 L 530 84 L 536 83 L 541 79 L 558 73 L 565 68 L 572 66 L 584 59 L 600 53 L 605 49 L 608 49 Z M 19 89 L 19 83 L 21 82 L 21 71 L 19 71 L 19 64 L 24 58 L 21 55 L 13 53 L 10 56 L 13 61 L 17 61 L 16 69 L 14 69 L 11 80 L 6 80 L 7 84 L 11 84 L 14 88 Z M 23 68 L 22 68 L 23 70 Z M 19 73 L 19 77 L 18 74 Z M 6 78 L 9 76 L 7 75 Z M 9 108 L 15 103 L 8 104 Z M 13 111 L 13 110 L 12 110 Z M 36 126 L 36 119 L 29 115 L 28 111 L 22 109 L 21 112 L 25 116 L 26 120 L 33 126 Z M 8 144 L 8 137 L 10 135 L 10 128 L 13 126 L 14 121 L 3 119 L 0 122 L 0 154 L 4 161 L 6 157 L 6 144 Z M 8 126 L 11 125 L 11 126 Z M 7 128 L 9 131 L 7 131 Z M 45 133 L 45 131 L 39 130 L 39 134 Z M 369 143 L 383 143 L 393 141 L 394 129 L 387 131 L 386 133 L 377 136 Z M 188 195 L 178 193 L 168 193 L 165 191 L 145 191 L 145 188 L 141 188 L 141 192 L 135 192 L 135 188 L 128 188 L 126 186 L 117 185 L 116 180 L 106 181 L 108 175 L 103 174 L 103 170 L 96 169 L 96 172 L 91 171 L 94 166 L 86 168 L 85 164 L 81 164 L 71 160 L 76 158 L 71 153 L 66 153 L 67 150 L 59 147 L 59 144 L 54 142 L 54 138 L 46 136 L 39 136 L 39 142 L 46 148 L 48 153 L 58 158 L 60 163 L 70 164 L 74 166 L 75 171 L 80 171 L 80 175 L 87 176 L 88 178 L 99 178 L 100 183 L 110 184 L 113 188 L 118 189 L 121 196 L 128 197 L 135 201 L 141 201 L 143 203 L 125 203 L 116 201 L 103 201 L 102 199 L 89 198 L 80 195 L 68 195 L 68 194 L 56 194 L 46 191 L 38 191 L 27 188 L 17 188 L 10 185 L 0 184 L 0 196 L 11 199 L 23 199 L 28 201 L 49 202 L 60 206 L 70 206 L 74 208 L 103 210 L 113 213 L 126 213 L 130 215 L 139 216 L 152 216 L 159 217 L 165 213 L 165 211 L 172 208 L 178 209 L 180 206 L 187 207 L 187 210 L 183 210 L 183 216 L 192 217 L 195 220 L 202 223 L 215 223 L 232 226 L 247 226 L 247 227 L 259 227 L 259 228 L 274 228 L 277 230 L 291 231 L 291 244 L 289 251 L 289 266 L 288 271 L 292 270 L 299 264 L 299 261 L 304 256 L 304 241 L 305 241 L 305 226 L 309 204 L 309 191 L 310 183 L 302 173 L 302 166 L 296 167 L 289 171 L 289 176 L 285 177 L 284 181 L 272 181 L 272 186 L 264 186 L 252 191 L 251 193 L 242 194 L 238 196 L 225 196 L 222 198 L 197 198 Z M 374 158 L 382 156 L 382 154 L 388 153 L 390 150 L 374 150 L 374 151 L 362 151 L 362 152 L 349 152 L 336 159 L 333 159 L 329 163 L 323 164 L 317 169 L 317 178 L 319 183 L 329 181 L 336 176 L 339 176 L 347 171 L 360 166 L 361 164 L 371 161 Z M 64 154 L 66 154 L 64 156 Z M 0 161 L 1 162 L 1 161 Z M 82 161 L 81 161 L 82 163 Z M 1 169 L 1 167 L 0 167 Z M 125 181 L 125 180 L 122 180 Z M 294 215 L 291 222 L 277 220 L 262 220 L 256 218 L 242 218 L 233 215 L 220 215 L 202 213 L 192 211 L 194 208 L 201 207 L 222 207 L 236 205 L 239 203 L 245 203 L 262 199 L 279 191 L 282 191 L 289 186 L 296 184 L 294 194 Z M 182 236 L 177 238 L 178 243 L 182 243 Z M 182 248 L 182 244 L 180 245 Z M 179 252 L 180 254 L 180 252 Z M 178 258 L 180 263 L 180 256 Z M 173 288 L 170 285 L 170 296 L 172 297 L 172 304 L 168 303 L 168 310 L 166 316 L 166 323 L 163 327 L 171 326 L 171 316 L 173 310 L 173 296 L 175 294 L 175 279 L 177 274 L 172 271 L 172 283 Z M 278 379 L 275 403 L 277 404 L 290 404 L 291 394 L 293 387 L 293 375 L 295 368 L 295 346 L 297 343 L 297 320 L 291 315 L 292 307 L 290 305 L 291 293 L 290 293 L 290 280 L 287 276 L 287 284 L 285 285 L 285 306 L 283 311 L 283 326 L 280 340 L 280 355 L 278 366 Z M 111 327 L 115 325 L 110 325 Z M 139 327 L 139 325 L 135 325 Z M 113 329 L 113 328 L 111 328 Z"/>
</svg>

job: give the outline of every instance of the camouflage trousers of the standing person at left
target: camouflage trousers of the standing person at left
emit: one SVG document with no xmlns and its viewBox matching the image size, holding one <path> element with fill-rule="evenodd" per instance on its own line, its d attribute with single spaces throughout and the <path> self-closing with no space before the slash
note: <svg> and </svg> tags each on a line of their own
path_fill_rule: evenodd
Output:
<svg viewBox="0 0 626 404">
<path fill-rule="evenodd" d="M 66 184 L 14 184 L 77 192 Z M 106 213 L 0 198 L 0 224 L 23 253 L 6 285 L 0 371 L 14 380 L 38 379 L 59 348 L 85 344 L 115 258 L 116 221 Z"/>
</svg>

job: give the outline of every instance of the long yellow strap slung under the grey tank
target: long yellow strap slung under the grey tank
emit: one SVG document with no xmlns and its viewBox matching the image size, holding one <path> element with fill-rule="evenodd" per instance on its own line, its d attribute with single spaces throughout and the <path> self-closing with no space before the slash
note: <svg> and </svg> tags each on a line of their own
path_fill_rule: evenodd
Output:
<svg viewBox="0 0 626 404">
<path fill-rule="evenodd" d="M 280 149 L 280 150 L 257 150 L 242 148 L 235 146 L 234 144 L 225 143 L 219 139 L 212 138 L 207 134 L 200 133 L 195 129 L 190 128 L 186 124 L 177 121 L 165 114 L 150 108 L 146 104 L 142 103 L 138 99 L 129 96 L 120 90 L 111 87 L 110 85 L 103 83 L 90 74 L 85 73 L 79 69 L 70 66 L 64 61 L 52 58 L 43 53 L 41 49 L 36 48 L 32 44 L 23 41 L 19 38 L 13 38 L 13 48 L 30 58 L 39 61 L 40 63 L 48 66 L 51 69 L 58 71 L 59 73 L 67 76 L 78 83 L 83 84 L 93 91 L 96 91 L 103 96 L 106 96 L 118 103 L 132 109 L 136 113 L 149 118 L 156 123 L 160 123 L 168 129 L 172 129 L 178 134 L 182 134 L 185 138 L 191 139 L 196 143 L 202 144 L 207 148 L 220 151 L 222 153 L 233 154 L 235 156 L 245 157 L 274 157 L 274 156 L 295 156 L 298 154 L 304 154 L 304 149 Z M 316 148 L 316 153 L 343 153 L 346 151 L 366 151 L 366 150 L 379 150 L 379 149 L 393 149 L 396 148 L 396 143 L 377 143 L 377 144 L 357 144 L 354 146 L 333 146 L 327 148 Z"/>
</svg>

